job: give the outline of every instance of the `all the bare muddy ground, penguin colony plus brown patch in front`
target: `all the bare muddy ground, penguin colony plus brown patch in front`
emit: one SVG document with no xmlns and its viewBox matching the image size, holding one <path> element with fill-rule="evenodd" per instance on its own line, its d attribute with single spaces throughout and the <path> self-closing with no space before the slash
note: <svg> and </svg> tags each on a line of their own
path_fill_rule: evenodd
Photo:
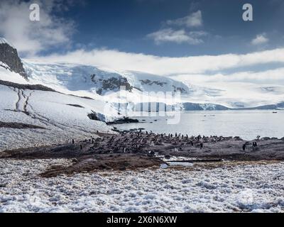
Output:
<svg viewBox="0 0 284 227">
<path fill-rule="evenodd" d="M 97 135 L 99 138 L 75 141 L 74 144 L 7 150 L 0 153 L 0 158 L 21 160 L 65 158 L 74 161 L 70 166 L 51 167 L 42 177 L 96 170 L 159 167 L 165 163 L 163 158 L 166 160 L 173 157 L 175 160 L 183 157 L 183 162 L 187 160 L 214 162 L 211 163 L 213 166 L 222 161 L 240 163 L 284 160 L 284 140 L 277 138 L 245 141 L 231 137 L 188 137 L 140 132 Z M 257 143 L 256 148 L 253 148 L 253 142 Z M 243 150 L 244 144 L 246 144 L 245 150 Z"/>
</svg>

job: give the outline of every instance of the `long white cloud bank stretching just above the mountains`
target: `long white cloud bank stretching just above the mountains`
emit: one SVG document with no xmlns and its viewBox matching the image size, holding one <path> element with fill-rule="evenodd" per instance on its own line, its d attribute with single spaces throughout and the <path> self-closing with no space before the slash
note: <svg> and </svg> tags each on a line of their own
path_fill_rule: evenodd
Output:
<svg viewBox="0 0 284 227">
<path fill-rule="evenodd" d="M 51 62 L 76 62 L 109 67 L 114 70 L 136 70 L 163 76 L 178 74 L 207 74 L 226 69 L 284 63 L 284 48 L 253 52 L 246 55 L 204 55 L 196 57 L 158 57 L 154 55 L 120 52 L 118 50 L 76 50 L 65 55 L 39 57 Z"/>
</svg>

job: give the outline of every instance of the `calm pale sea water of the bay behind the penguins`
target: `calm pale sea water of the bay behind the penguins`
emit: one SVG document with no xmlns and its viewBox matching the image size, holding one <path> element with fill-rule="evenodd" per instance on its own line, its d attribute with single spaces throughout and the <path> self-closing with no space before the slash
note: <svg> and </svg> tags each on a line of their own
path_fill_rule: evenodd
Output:
<svg viewBox="0 0 284 227">
<path fill-rule="evenodd" d="M 119 130 L 145 128 L 154 133 L 188 135 L 240 136 L 252 140 L 261 137 L 284 137 L 284 111 L 185 111 L 180 123 L 169 125 L 167 117 L 138 117 L 140 123 L 115 125 Z"/>
</svg>

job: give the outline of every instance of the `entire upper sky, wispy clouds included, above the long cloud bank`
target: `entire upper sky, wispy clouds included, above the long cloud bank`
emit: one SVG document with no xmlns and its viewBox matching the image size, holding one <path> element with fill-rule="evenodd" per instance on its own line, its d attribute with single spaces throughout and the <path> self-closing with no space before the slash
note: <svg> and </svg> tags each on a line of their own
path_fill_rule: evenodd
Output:
<svg viewBox="0 0 284 227">
<path fill-rule="evenodd" d="M 48 29 L 44 23 L 51 19 L 48 32 L 55 31 L 56 35 L 59 31 L 60 38 L 49 37 L 49 41 L 55 40 L 52 45 L 45 45 L 48 40 L 41 43 L 45 48 L 31 45 L 34 51 L 28 50 L 28 47 L 21 48 L 23 43 L 20 43 L 18 49 L 23 54 L 49 55 L 77 48 L 107 48 L 183 57 L 241 54 L 284 45 L 283 0 L 2 0 L 0 7 L 4 11 L 5 4 L 17 6 L 23 14 L 21 16 L 28 18 L 28 6 L 33 2 L 40 5 L 41 21 L 38 24 L 27 21 L 23 27 L 46 35 Z M 242 6 L 246 3 L 253 6 L 253 21 L 250 22 L 242 20 Z M 10 19 L 17 17 L 16 14 L 11 12 Z M 177 22 L 186 17 L 200 23 L 190 26 Z M 18 43 L 12 31 L 4 29 L 7 30 L 6 26 L 0 28 L 0 35 Z M 29 36 L 30 41 L 36 39 L 36 35 Z M 38 40 L 44 40 L 44 37 L 38 35 Z M 257 37 L 263 38 L 263 42 L 252 45 L 251 42 Z"/>
</svg>

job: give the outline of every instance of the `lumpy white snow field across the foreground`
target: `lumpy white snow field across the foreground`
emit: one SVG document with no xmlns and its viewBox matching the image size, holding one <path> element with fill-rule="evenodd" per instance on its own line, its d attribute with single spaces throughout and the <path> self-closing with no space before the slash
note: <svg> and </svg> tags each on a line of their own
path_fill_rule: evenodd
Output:
<svg viewBox="0 0 284 227">
<path fill-rule="evenodd" d="M 0 160 L 0 212 L 283 212 L 284 162 L 43 179 L 67 160 Z"/>
</svg>

